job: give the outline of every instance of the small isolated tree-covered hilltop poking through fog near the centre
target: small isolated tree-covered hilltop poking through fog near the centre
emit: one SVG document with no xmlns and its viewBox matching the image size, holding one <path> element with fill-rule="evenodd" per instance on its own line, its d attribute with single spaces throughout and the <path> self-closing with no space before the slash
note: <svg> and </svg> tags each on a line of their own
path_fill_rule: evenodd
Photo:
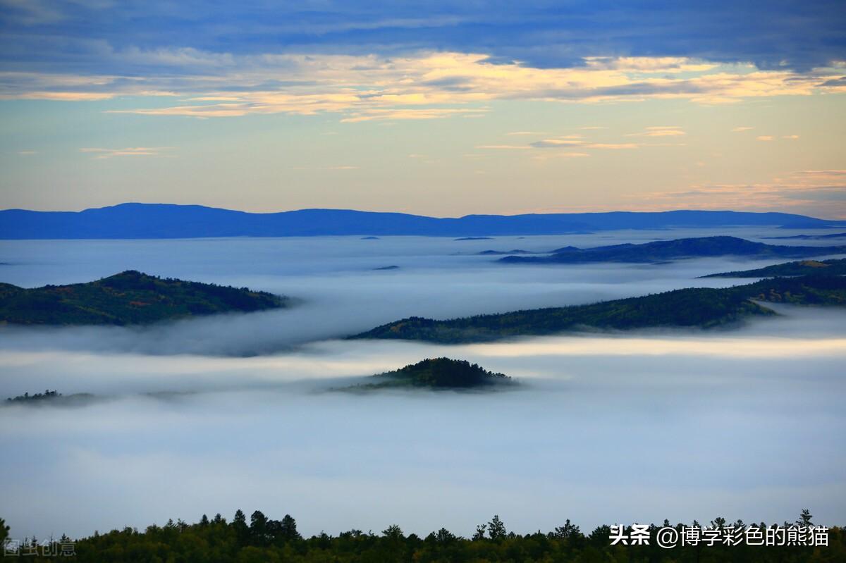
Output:
<svg viewBox="0 0 846 563">
<path fill-rule="evenodd" d="M 404 368 L 387 371 L 369 378 L 372 383 L 353 385 L 346 391 L 371 391 L 376 389 L 427 388 L 427 389 L 478 389 L 493 385 L 511 384 L 505 374 L 488 371 L 476 363 L 451 358 L 426 358 Z"/>
</svg>

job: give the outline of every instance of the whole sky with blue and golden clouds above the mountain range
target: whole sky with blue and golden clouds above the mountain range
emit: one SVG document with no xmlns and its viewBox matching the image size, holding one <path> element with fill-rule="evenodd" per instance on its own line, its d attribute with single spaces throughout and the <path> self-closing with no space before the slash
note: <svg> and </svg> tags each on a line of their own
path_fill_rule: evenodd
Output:
<svg viewBox="0 0 846 563">
<path fill-rule="evenodd" d="M 846 218 L 842 2 L 0 0 L 0 208 Z"/>
</svg>

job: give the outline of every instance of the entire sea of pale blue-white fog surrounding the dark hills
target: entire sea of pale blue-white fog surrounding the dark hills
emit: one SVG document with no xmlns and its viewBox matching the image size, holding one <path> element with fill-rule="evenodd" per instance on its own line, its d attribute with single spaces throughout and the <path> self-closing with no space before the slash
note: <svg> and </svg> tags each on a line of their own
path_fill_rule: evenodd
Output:
<svg viewBox="0 0 846 563">
<path fill-rule="evenodd" d="M 776 233 L 790 234 L 731 234 Z M 495 513 L 519 532 L 566 518 L 583 529 L 717 516 L 780 522 L 805 507 L 817 522 L 843 524 L 842 311 L 780 307 L 782 318 L 738 331 L 460 347 L 332 339 L 409 314 L 733 285 L 740 281 L 693 278 L 780 261 L 505 266 L 475 255 L 700 234 L 0 243 L 0 282 L 26 287 L 137 269 L 301 300 L 145 329 L 4 327 L 0 397 L 47 388 L 97 397 L 0 407 L 0 517 L 13 538 L 218 511 L 231 518 L 238 508 L 290 513 L 303 533 L 398 523 L 469 535 Z M 372 270 L 387 265 L 400 268 Z M 330 391 L 442 355 L 523 385 Z"/>
</svg>

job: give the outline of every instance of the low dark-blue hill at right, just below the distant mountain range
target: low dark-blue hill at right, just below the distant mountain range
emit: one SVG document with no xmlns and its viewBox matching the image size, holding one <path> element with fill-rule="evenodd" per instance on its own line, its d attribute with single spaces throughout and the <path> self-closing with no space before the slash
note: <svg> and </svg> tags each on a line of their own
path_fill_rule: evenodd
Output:
<svg viewBox="0 0 846 563">
<path fill-rule="evenodd" d="M 590 262 L 661 262 L 708 256 L 747 258 L 805 258 L 824 254 L 846 254 L 841 246 L 786 246 L 755 243 L 737 237 L 699 237 L 657 240 L 642 244 L 614 244 L 592 249 L 574 246 L 552 250 L 547 256 L 506 256 L 500 262 L 540 264 L 584 264 Z"/>
</svg>

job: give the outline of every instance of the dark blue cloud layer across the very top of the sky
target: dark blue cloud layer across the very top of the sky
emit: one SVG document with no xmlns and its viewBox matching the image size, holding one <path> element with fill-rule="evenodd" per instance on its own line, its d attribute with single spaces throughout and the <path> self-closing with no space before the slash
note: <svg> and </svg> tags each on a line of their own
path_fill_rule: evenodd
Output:
<svg viewBox="0 0 846 563">
<path fill-rule="evenodd" d="M 113 74 L 123 53 L 137 73 L 162 59 L 196 67 L 267 52 L 404 56 L 421 46 L 489 52 L 497 62 L 565 68 L 585 57 L 695 57 L 759 68 L 808 69 L 844 58 L 841 3 L 707 4 L 662 0 L 568 3 L 455 0 L 404 3 L 179 4 L 155 0 L 3 0 L 0 61 L 40 70 Z M 181 47 L 151 60 L 151 53 Z M 679 66 L 684 66 L 679 63 Z M 651 63 L 640 68 L 650 70 Z M 135 73 L 134 73 L 135 74 Z"/>
</svg>

